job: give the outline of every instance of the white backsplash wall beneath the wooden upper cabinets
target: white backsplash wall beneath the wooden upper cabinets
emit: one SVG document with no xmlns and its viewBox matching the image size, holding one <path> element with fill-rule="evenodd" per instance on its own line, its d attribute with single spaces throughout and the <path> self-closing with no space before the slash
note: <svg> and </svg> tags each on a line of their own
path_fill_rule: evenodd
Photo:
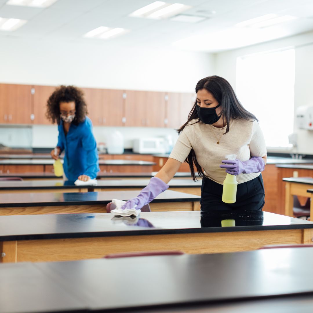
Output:
<svg viewBox="0 0 313 313">
<path fill-rule="evenodd" d="M 140 137 L 163 137 L 171 136 L 173 143 L 177 141 L 178 134 L 174 129 L 157 127 L 103 127 L 94 126 L 93 128 L 97 143 L 106 142 L 107 136 L 113 131 L 120 131 L 124 136 L 124 148 L 131 149 L 132 141 Z M 51 148 L 58 142 L 58 128 L 56 125 L 34 125 L 32 126 L 32 147 Z"/>
</svg>

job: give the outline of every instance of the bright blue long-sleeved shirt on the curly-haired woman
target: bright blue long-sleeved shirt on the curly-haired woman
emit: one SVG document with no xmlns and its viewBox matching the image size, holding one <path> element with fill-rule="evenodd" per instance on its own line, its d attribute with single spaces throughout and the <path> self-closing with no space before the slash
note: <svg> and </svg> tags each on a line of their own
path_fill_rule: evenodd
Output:
<svg viewBox="0 0 313 313">
<path fill-rule="evenodd" d="M 57 146 L 61 152 L 65 150 L 63 169 L 68 180 L 75 181 L 80 175 L 88 175 L 91 179 L 97 177 L 99 157 L 90 118 L 86 116 L 78 125 L 71 123 L 66 136 L 62 120 L 58 130 Z"/>
</svg>

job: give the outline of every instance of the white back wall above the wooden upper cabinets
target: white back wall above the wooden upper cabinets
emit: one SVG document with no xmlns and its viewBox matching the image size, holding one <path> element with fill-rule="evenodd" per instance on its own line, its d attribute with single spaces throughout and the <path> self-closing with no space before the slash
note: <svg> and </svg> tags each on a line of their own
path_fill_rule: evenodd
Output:
<svg viewBox="0 0 313 313">
<path fill-rule="evenodd" d="M 213 55 L 172 49 L 1 39 L 0 82 L 192 92 Z"/>
</svg>

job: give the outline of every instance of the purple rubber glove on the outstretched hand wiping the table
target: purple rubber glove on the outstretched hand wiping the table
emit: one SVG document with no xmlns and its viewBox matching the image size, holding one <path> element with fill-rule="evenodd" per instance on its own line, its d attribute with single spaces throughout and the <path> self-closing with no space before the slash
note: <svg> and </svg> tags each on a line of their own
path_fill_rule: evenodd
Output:
<svg viewBox="0 0 313 313">
<path fill-rule="evenodd" d="M 136 198 L 128 200 L 121 209 L 131 209 L 137 204 L 136 209 L 141 209 L 144 205 L 150 203 L 161 192 L 165 191 L 169 186 L 157 177 L 152 177 L 149 184 L 144 187 Z"/>
</svg>

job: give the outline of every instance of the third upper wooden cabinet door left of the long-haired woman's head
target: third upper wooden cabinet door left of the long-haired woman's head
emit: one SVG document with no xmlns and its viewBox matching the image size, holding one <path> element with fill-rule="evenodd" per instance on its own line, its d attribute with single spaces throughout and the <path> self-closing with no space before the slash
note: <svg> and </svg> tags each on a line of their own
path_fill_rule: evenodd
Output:
<svg viewBox="0 0 313 313">
<path fill-rule="evenodd" d="M 165 92 L 146 91 L 146 126 L 165 126 Z"/>
</svg>

